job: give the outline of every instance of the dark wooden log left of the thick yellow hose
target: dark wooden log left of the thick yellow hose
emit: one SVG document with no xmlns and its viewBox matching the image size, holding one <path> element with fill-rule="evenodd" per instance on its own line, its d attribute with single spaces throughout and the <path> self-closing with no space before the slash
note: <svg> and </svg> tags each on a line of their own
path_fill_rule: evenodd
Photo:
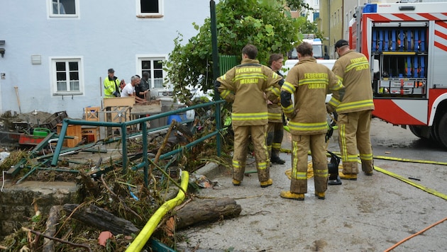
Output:
<svg viewBox="0 0 447 252">
<path fill-rule="evenodd" d="M 77 204 L 65 204 L 64 210 L 71 213 L 76 207 L 78 207 Z M 140 231 L 140 229 L 135 227 L 132 222 L 116 217 L 114 214 L 107 212 L 103 208 L 96 207 L 96 205 L 79 208 L 73 213 L 72 217 L 79 220 L 79 222 L 96 227 L 101 231 L 111 231 L 114 235 L 138 234 Z"/>
</svg>

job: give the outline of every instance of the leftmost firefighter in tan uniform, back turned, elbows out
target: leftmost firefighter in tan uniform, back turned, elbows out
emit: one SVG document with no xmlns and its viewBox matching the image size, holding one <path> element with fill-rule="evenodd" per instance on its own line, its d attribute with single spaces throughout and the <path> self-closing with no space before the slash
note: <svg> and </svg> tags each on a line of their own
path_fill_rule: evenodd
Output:
<svg viewBox="0 0 447 252">
<path fill-rule="evenodd" d="M 270 167 L 267 165 L 267 102 L 266 91 L 280 96 L 278 81 L 281 76 L 256 60 L 258 49 L 254 45 L 245 45 L 240 65 L 220 76 L 214 87 L 220 96 L 233 103 L 231 120 L 234 131 L 233 185 L 241 185 L 245 173 L 248 137 L 251 136 L 255 151 L 256 168 L 260 186 L 272 185 Z"/>
</svg>

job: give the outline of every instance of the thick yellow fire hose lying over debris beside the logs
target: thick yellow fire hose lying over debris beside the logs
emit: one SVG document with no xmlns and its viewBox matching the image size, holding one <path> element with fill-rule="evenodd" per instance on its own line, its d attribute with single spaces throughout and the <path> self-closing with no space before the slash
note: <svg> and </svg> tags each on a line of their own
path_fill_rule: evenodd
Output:
<svg viewBox="0 0 447 252">
<path fill-rule="evenodd" d="M 182 171 L 182 183 L 180 186 L 183 188 L 183 190 L 186 192 L 188 189 L 188 181 L 189 181 L 189 173 L 187 171 Z M 157 228 L 158 224 L 160 223 L 162 217 L 167 214 L 170 210 L 172 210 L 177 205 L 180 205 L 182 201 L 184 200 L 184 195 L 182 190 L 179 190 L 179 193 L 177 193 L 177 197 L 173 198 L 172 200 L 168 200 L 165 202 L 161 207 L 158 208 L 157 211 L 150 217 L 149 221 L 145 224 L 143 229 L 141 229 L 140 234 L 136 236 L 136 239 L 133 240 L 131 245 L 128 246 L 126 249 L 127 252 L 134 252 L 134 251 L 141 251 L 141 249 L 145 246 L 146 242 L 148 242 L 150 236 L 155 231 L 155 228 Z"/>
</svg>

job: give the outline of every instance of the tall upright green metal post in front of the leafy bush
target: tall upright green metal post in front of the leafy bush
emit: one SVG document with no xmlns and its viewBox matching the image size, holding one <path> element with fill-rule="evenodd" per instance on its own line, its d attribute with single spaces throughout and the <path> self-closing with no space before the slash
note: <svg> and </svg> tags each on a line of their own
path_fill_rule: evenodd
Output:
<svg viewBox="0 0 447 252">
<path fill-rule="evenodd" d="M 217 79 L 221 73 L 219 72 L 219 52 L 217 50 L 217 28 L 216 28 L 216 3 L 214 0 L 209 1 L 209 11 L 211 12 L 211 44 L 213 48 L 213 77 Z M 221 96 L 219 92 L 214 91 L 214 101 L 219 101 Z M 216 135 L 217 156 L 221 156 L 221 105 L 216 104 L 216 130 L 219 134 Z"/>
</svg>

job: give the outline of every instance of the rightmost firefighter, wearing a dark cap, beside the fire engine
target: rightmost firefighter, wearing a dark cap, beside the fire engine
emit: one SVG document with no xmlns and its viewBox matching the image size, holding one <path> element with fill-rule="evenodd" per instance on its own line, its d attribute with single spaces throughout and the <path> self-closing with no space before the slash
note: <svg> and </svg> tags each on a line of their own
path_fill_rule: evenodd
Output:
<svg viewBox="0 0 447 252">
<path fill-rule="evenodd" d="M 374 110 L 371 70 L 365 55 L 349 50 L 346 40 L 335 45 L 339 56 L 332 71 L 346 87 L 343 101 L 334 92 L 327 105 L 331 113 L 338 113 L 338 144 L 343 162 L 342 179 L 357 180 L 357 150 L 360 152 L 362 170 L 367 176 L 373 175 L 373 148 L 370 140 L 371 113 Z"/>
</svg>

